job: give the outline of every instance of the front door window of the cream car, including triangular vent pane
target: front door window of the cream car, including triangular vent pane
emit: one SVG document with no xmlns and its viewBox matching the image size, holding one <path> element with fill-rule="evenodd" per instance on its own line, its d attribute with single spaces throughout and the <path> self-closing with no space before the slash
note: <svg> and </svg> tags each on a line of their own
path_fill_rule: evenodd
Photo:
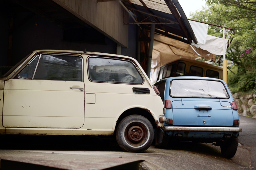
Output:
<svg viewBox="0 0 256 170">
<path fill-rule="evenodd" d="M 15 78 L 82 81 L 82 58 L 73 55 L 41 54 L 29 62 Z"/>
</svg>

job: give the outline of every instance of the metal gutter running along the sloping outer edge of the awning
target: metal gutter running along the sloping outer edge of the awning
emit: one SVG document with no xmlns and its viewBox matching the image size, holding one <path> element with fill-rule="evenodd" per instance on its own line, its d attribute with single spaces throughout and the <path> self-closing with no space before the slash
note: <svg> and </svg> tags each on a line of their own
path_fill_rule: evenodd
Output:
<svg viewBox="0 0 256 170">
<path fill-rule="evenodd" d="M 188 32 L 191 36 L 191 39 L 193 40 L 193 42 L 195 44 L 197 44 L 197 38 L 193 32 L 193 29 L 191 28 L 190 23 L 188 22 L 187 16 L 185 15 L 185 12 L 183 11 L 182 7 L 180 6 L 180 3 L 178 2 L 178 0 L 172 0 L 173 4 L 176 6 L 176 8 L 178 9 L 180 16 L 186 26 L 186 28 L 188 29 Z"/>
</svg>

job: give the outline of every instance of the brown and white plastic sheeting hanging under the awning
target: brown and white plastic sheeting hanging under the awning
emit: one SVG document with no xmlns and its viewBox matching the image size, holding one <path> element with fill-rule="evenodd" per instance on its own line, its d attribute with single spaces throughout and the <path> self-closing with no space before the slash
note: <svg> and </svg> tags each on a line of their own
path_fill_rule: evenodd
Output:
<svg viewBox="0 0 256 170">
<path fill-rule="evenodd" d="M 223 55 L 223 39 L 206 35 L 205 44 L 187 43 L 155 33 L 152 53 L 151 81 L 157 79 L 157 72 L 162 65 L 177 60 L 188 58 L 195 60 L 201 57 L 205 60 L 215 61 L 216 55 Z M 226 40 L 227 45 L 228 40 Z M 157 69 L 158 68 L 158 69 Z"/>
</svg>

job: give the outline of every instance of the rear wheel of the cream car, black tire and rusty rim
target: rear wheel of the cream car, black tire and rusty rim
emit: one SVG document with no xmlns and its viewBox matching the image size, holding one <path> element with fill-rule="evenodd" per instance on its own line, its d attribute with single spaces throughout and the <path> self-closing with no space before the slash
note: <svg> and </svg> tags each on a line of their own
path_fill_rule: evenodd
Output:
<svg viewBox="0 0 256 170">
<path fill-rule="evenodd" d="M 147 118 L 140 115 L 123 118 L 116 129 L 116 141 L 126 152 L 144 152 L 153 139 L 153 126 Z"/>
</svg>

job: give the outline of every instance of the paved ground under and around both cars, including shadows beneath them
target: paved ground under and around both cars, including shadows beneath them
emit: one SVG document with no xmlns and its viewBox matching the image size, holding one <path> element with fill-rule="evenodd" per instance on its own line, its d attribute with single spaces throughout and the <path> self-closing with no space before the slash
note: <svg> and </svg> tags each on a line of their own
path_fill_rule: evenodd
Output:
<svg viewBox="0 0 256 170">
<path fill-rule="evenodd" d="M 180 142 L 168 148 L 151 146 L 144 153 L 123 152 L 114 138 L 91 136 L 10 136 L 0 138 L 1 168 L 17 164 L 17 169 L 28 165 L 50 169 L 254 169 L 256 119 L 240 116 L 240 133 L 236 155 L 222 157 L 219 146 L 211 143 Z M 0 136 L 1 137 L 1 136 Z M 32 167 L 30 169 L 40 169 Z M 15 167 L 13 168 L 15 169 Z M 2 170 L 2 169 L 1 169 Z"/>
</svg>

